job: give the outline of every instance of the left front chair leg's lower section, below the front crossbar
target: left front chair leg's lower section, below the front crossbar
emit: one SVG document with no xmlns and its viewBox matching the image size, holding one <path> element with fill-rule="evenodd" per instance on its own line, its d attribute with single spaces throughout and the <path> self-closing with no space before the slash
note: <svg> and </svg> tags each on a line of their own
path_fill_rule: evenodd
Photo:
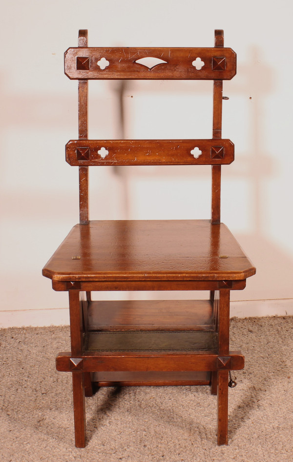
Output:
<svg viewBox="0 0 293 462">
<path fill-rule="evenodd" d="M 85 399 L 84 399 L 84 374 L 72 373 L 73 407 L 74 407 L 74 431 L 76 447 L 85 447 Z"/>
</svg>

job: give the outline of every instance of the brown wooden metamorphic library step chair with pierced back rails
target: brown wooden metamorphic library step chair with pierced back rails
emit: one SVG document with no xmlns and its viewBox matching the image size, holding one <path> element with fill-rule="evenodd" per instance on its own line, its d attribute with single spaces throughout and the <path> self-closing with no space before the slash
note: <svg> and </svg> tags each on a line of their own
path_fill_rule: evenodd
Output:
<svg viewBox="0 0 293 462">
<path fill-rule="evenodd" d="M 229 349 L 230 291 L 255 268 L 220 222 L 221 166 L 234 160 L 222 139 L 223 80 L 236 55 L 222 30 L 212 48 L 93 48 L 87 31 L 65 52 L 65 74 L 78 80 L 79 137 L 66 161 L 79 167 L 80 223 L 43 268 L 53 289 L 68 291 L 71 351 L 56 358 L 72 373 L 75 444 L 84 447 L 85 396 L 94 386 L 210 385 L 217 395 L 217 441 L 228 444 L 229 372 L 244 367 Z M 149 64 L 146 58 L 156 58 Z M 213 81 L 212 138 L 89 140 L 91 79 Z M 211 220 L 89 221 L 88 167 L 211 165 Z M 206 300 L 92 301 L 92 291 L 208 291 Z"/>
</svg>

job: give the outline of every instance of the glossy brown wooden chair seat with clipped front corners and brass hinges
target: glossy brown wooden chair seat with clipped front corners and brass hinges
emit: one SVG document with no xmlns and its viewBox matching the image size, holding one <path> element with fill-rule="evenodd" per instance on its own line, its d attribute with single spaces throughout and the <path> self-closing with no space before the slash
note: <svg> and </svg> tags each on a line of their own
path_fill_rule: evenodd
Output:
<svg viewBox="0 0 293 462">
<path fill-rule="evenodd" d="M 53 281 L 244 280 L 254 273 L 228 228 L 209 220 L 75 225 L 43 268 Z"/>
</svg>

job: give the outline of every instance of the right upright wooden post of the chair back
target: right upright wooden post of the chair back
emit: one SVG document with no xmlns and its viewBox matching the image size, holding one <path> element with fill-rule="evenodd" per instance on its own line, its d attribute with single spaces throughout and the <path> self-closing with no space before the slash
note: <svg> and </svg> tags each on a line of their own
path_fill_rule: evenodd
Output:
<svg viewBox="0 0 293 462">
<path fill-rule="evenodd" d="M 224 46 L 224 31 L 215 30 L 215 46 Z M 223 81 L 213 82 L 213 121 L 212 137 L 222 138 L 222 99 Z M 211 222 L 221 222 L 221 166 L 211 166 Z"/>
</svg>

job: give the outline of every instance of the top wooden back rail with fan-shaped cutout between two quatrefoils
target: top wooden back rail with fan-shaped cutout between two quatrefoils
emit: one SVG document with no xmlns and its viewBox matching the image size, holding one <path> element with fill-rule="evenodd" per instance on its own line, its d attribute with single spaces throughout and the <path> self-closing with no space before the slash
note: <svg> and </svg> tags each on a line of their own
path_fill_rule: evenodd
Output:
<svg viewBox="0 0 293 462">
<path fill-rule="evenodd" d="M 149 69 L 137 60 L 153 57 L 161 63 Z M 197 70 L 192 63 L 200 58 L 205 64 Z M 77 69 L 77 59 L 88 58 L 86 69 Z M 105 58 L 107 67 L 98 62 Z M 225 58 L 223 66 L 215 58 Z M 127 79 L 127 80 L 230 80 L 236 73 L 236 54 L 231 48 L 133 48 L 133 47 L 78 47 L 68 48 L 64 54 L 64 72 L 70 79 Z"/>
</svg>

